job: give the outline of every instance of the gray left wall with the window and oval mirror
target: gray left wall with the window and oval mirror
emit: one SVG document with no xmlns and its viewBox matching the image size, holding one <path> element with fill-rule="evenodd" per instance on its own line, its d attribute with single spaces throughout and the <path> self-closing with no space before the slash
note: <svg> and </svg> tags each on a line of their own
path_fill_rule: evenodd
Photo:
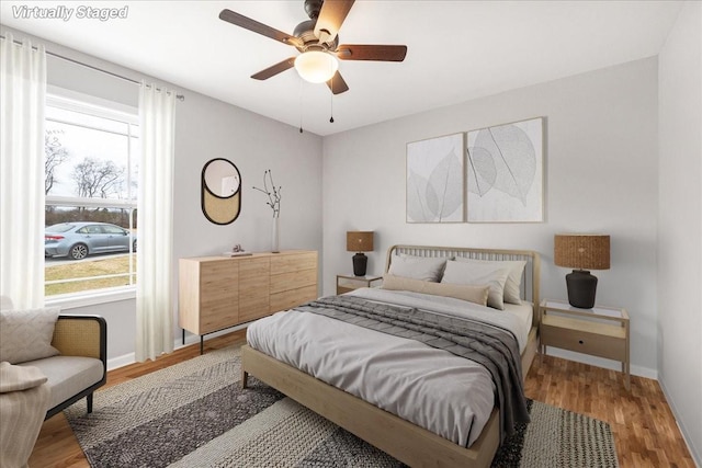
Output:
<svg viewBox="0 0 702 468">
<path fill-rule="evenodd" d="M 176 175 L 173 191 L 173 277 L 178 259 L 217 255 L 240 243 L 246 250 L 271 248 L 272 212 L 265 196 L 252 186 L 262 184 L 263 171 L 271 169 L 282 185 L 281 248 L 313 249 L 321 253 L 321 137 L 262 117 L 182 88 L 176 88 L 137 71 L 91 57 L 57 44 L 37 39 L 16 30 L 16 39 L 31 37 L 46 45 L 47 52 L 109 70 L 134 80 L 146 79 L 184 94 L 176 110 Z M 48 84 L 138 105 L 138 85 L 90 68 L 47 57 Z M 213 158 L 234 162 L 242 179 L 242 206 L 230 225 L 210 222 L 201 210 L 200 176 Z M 173 292 L 173 339 L 178 329 L 178 290 Z M 64 308 L 66 310 L 66 307 Z M 100 313 L 107 320 L 107 356 L 112 366 L 133 362 L 136 301 L 117 300 L 70 308 L 71 313 Z M 189 336 L 189 341 L 194 338 Z"/>
</svg>

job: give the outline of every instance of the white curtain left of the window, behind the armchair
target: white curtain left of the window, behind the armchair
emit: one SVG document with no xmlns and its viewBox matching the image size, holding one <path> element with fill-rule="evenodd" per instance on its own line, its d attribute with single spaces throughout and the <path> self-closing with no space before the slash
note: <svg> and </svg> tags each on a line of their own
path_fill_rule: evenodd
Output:
<svg viewBox="0 0 702 468">
<path fill-rule="evenodd" d="M 0 295 L 44 305 L 46 50 L 0 38 Z"/>
</svg>

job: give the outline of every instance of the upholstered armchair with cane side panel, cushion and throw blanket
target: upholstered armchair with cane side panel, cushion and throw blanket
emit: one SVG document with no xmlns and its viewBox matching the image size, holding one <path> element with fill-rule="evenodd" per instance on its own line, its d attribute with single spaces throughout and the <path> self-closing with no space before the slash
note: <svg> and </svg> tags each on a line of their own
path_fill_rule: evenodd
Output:
<svg viewBox="0 0 702 468">
<path fill-rule="evenodd" d="M 0 297 L 0 466 L 26 467 L 42 422 L 107 379 L 107 323 Z"/>
</svg>

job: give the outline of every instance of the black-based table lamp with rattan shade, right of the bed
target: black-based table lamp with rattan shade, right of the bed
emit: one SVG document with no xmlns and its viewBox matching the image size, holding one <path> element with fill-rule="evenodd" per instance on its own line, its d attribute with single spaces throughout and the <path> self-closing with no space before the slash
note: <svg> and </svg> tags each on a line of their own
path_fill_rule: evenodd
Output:
<svg viewBox="0 0 702 468">
<path fill-rule="evenodd" d="M 610 269 L 610 237 L 563 233 L 554 237 L 554 263 L 573 269 L 566 275 L 568 303 L 580 309 L 595 306 L 597 276 L 589 270 Z"/>
</svg>

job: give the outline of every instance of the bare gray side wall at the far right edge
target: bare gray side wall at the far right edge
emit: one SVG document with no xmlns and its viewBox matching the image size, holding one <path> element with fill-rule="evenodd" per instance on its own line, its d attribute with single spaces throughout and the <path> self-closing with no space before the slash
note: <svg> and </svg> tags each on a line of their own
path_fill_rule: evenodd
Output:
<svg viewBox="0 0 702 468">
<path fill-rule="evenodd" d="M 659 380 L 702 464 L 702 3 L 659 56 Z"/>
</svg>

